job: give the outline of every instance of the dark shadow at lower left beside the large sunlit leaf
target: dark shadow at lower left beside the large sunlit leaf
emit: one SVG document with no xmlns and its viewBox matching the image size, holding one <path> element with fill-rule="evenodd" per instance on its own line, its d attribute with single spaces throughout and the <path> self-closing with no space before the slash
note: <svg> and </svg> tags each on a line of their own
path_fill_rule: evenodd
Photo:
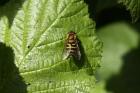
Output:
<svg viewBox="0 0 140 93">
<path fill-rule="evenodd" d="M 12 48 L 0 43 L 0 93 L 27 93 L 26 88 L 14 63 Z"/>
</svg>

